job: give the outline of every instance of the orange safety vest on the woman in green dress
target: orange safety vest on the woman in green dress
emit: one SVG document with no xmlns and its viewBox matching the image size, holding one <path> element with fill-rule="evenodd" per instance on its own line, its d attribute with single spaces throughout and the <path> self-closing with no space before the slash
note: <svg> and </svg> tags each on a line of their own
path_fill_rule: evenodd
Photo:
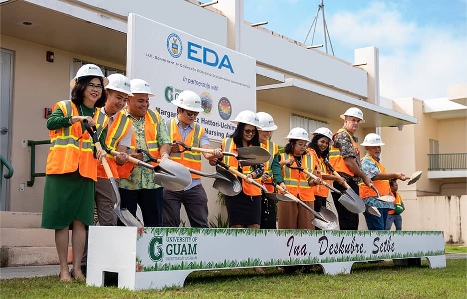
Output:
<svg viewBox="0 0 467 299">
<path fill-rule="evenodd" d="M 57 108 L 65 117 L 79 116 L 78 107 L 70 100 L 56 103 L 52 107 L 52 112 Z M 97 109 L 94 121 L 97 136 L 100 137 L 109 118 Z M 97 181 L 98 161 L 94 158 L 94 144 L 89 133 L 86 130 L 82 132 L 81 122 L 76 122 L 70 127 L 51 130 L 49 136 L 51 146 L 47 156 L 46 175 L 70 173 L 79 169 L 81 176 Z"/>
</svg>

